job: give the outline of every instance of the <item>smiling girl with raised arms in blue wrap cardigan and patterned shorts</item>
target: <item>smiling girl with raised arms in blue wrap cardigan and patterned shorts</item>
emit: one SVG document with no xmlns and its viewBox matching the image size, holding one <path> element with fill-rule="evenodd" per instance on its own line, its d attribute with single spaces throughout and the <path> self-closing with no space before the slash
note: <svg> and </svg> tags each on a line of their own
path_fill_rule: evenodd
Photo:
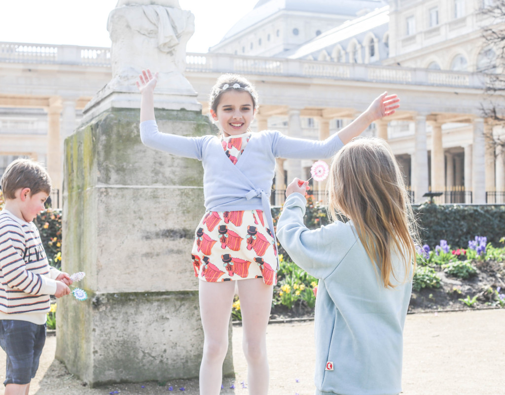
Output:
<svg viewBox="0 0 505 395">
<path fill-rule="evenodd" d="M 266 394 L 266 330 L 279 265 L 269 204 L 275 158 L 330 158 L 373 121 L 393 114 L 399 99 L 381 94 L 355 121 L 324 141 L 291 138 L 278 131 L 252 133 L 249 126 L 258 110 L 258 93 L 245 78 L 226 74 L 217 80 L 209 100 L 219 134 L 183 137 L 158 130 L 153 93 L 157 80 L 158 73 L 144 70 L 137 81 L 142 142 L 201 160 L 204 167 L 207 212 L 196 227 L 191 251 L 205 336 L 200 394 L 217 395 L 221 389 L 235 284 L 247 386 L 251 394 Z"/>
</svg>

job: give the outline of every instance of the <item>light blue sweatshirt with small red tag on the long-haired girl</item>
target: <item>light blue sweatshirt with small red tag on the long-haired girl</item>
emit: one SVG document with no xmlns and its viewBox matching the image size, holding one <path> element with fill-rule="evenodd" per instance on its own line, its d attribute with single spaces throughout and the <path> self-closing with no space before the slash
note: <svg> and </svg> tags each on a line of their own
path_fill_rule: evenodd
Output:
<svg viewBox="0 0 505 395">
<path fill-rule="evenodd" d="M 412 281 L 401 284 L 405 269 L 393 253 L 399 281 L 391 279 L 396 288 L 384 288 L 352 221 L 311 231 L 303 221 L 305 204 L 299 193 L 289 195 L 277 222 L 277 237 L 298 266 L 319 278 L 315 393 L 397 394 Z"/>
</svg>

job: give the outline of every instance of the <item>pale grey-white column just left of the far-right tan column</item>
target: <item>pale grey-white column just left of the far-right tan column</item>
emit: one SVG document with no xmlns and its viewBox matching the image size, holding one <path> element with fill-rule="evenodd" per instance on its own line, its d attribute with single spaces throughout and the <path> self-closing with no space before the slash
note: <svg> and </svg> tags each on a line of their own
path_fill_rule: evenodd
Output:
<svg viewBox="0 0 505 395">
<path fill-rule="evenodd" d="M 473 122 L 472 148 L 472 195 L 473 203 L 486 202 L 486 142 L 484 139 L 484 120 L 477 118 Z"/>
</svg>

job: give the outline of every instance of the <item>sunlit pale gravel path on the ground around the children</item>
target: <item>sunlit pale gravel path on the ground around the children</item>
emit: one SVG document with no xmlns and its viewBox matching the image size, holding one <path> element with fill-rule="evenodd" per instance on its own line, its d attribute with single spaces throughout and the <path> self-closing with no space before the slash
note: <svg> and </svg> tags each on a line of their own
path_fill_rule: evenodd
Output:
<svg viewBox="0 0 505 395">
<path fill-rule="evenodd" d="M 426 313 L 407 316 L 403 359 L 403 392 L 407 395 L 505 394 L 505 309 Z M 313 322 L 270 324 L 268 352 L 270 395 L 314 393 Z M 235 379 L 225 379 L 222 394 L 247 394 L 246 365 L 241 354 L 242 328 L 233 328 Z M 88 388 L 54 360 L 56 337 L 48 337 L 30 395 L 197 395 L 197 380 L 118 384 Z M 0 350 L 0 377 L 5 354 Z M 232 384 L 235 388 L 230 388 Z M 142 387 L 143 386 L 143 387 Z M 170 386 L 173 390 L 170 391 Z M 245 386 L 245 385 L 244 385 Z M 184 387 L 181 391 L 179 388 Z"/>
</svg>

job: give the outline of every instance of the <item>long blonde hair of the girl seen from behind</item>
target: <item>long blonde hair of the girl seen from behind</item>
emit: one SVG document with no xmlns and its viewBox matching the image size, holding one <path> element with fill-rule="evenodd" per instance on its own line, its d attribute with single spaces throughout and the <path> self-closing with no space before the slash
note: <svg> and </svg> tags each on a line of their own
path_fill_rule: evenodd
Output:
<svg viewBox="0 0 505 395">
<path fill-rule="evenodd" d="M 416 265 L 417 229 L 396 159 L 379 138 L 355 138 L 337 152 L 328 180 L 328 211 L 332 219 L 352 219 L 358 236 L 376 264 L 385 288 L 399 281 L 391 264 L 391 248 L 405 262 L 405 277 Z M 414 267 L 412 267 L 412 264 Z"/>
</svg>

